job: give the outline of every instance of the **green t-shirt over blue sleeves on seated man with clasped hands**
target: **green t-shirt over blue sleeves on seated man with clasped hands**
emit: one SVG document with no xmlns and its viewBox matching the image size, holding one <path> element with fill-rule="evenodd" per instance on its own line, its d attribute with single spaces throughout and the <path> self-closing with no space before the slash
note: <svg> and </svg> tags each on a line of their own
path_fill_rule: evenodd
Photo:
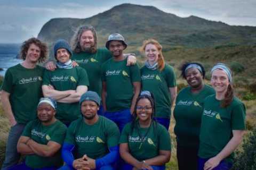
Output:
<svg viewBox="0 0 256 170">
<path fill-rule="evenodd" d="M 75 159 L 84 154 L 98 159 L 107 155 L 110 147 L 118 146 L 119 137 L 117 125 L 106 117 L 99 116 L 93 125 L 86 124 L 81 117 L 68 127 L 65 142 L 75 145 Z"/>
</svg>

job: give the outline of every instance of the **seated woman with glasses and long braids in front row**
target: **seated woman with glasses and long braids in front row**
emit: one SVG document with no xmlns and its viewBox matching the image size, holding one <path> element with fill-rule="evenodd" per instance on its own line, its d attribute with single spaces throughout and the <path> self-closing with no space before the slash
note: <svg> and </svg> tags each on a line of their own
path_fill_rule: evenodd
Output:
<svg viewBox="0 0 256 170">
<path fill-rule="evenodd" d="M 163 125 L 154 120 L 155 103 L 149 91 L 138 97 L 133 121 L 125 125 L 120 138 L 122 169 L 165 169 L 171 157 L 171 139 Z"/>
</svg>

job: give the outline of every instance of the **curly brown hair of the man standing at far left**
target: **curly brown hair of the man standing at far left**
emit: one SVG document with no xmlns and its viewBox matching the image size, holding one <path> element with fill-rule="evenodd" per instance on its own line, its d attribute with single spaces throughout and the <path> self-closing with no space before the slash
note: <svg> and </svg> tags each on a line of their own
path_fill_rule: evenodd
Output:
<svg viewBox="0 0 256 170">
<path fill-rule="evenodd" d="M 47 54 L 48 54 L 47 45 L 45 43 L 43 43 L 42 41 L 40 41 L 39 39 L 34 38 L 34 37 L 29 38 L 28 40 L 26 40 L 22 43 L 21 48 L 20 48 L 20 54 L 19 54 L 20 58 L 22 60 L 26 60 L 26 55 L 28 53 L 28 49 L 31 44 L 35 44 L 40 49 L 40 56 L 38 59 L 38 63 L 43 63 L 44 61 L 46 61 Z"/>
</svg>

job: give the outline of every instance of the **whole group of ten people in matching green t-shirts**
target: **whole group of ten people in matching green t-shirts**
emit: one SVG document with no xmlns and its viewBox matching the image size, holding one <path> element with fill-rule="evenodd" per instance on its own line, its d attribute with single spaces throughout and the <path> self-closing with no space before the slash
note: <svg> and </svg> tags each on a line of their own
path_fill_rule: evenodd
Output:
<svg viewBox="0 0 256 170">
<path fill-rule="evenodd" d="M 95 29 L 85 25 L 70 45 L 55 42 L 57 62 L 44 69 L 37 64 L 46 60 L 46 44 L 25 41 L 24 61 L 6 71 L 2 85 L 11 124 L 2 169 L 165 169 L 174 101 L 179 169 L 231 168 L 245 106 L 234 96 L 229 68 L 213 66 L 211 87 L 201 64 L 183 64 L 189 86 L 177 96 L 173 67 L 158 41 L 143 42 L 141 69 L 134 54 L 123 53 L 126 47 L 124 37 L 112 33 L 107 49 L 97 48 Z"/>
</svg>

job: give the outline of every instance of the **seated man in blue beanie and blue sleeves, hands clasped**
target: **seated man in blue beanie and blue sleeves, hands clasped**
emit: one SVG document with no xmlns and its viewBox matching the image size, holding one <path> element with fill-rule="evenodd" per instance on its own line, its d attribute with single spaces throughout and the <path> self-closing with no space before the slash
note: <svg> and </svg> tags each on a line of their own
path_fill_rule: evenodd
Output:
<svg viewBox="0 0 256 170">
<path fill-rule="evenodd" d="M 98 115 L 100 97 L 87 91 L 80 101 L 82 118 L 72 122 L 62 147 L 66 166 L 60 169 L 114 169 L 119 157 L 116 124 Z M 72 151 L 76 150 L 73 156 Z"/>
</svg>

